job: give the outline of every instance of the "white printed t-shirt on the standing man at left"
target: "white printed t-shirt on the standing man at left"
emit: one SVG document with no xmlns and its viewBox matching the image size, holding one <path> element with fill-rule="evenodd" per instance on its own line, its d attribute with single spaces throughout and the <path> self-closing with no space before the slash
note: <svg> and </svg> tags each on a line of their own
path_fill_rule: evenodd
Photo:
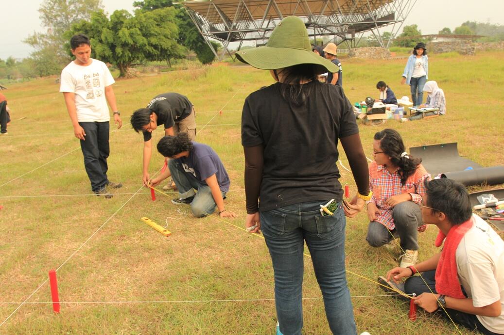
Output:
<svg viewBox="0 0 504 335">
<path fill-rule="evenodd" d="M 79 122 L 110 120 L 105 87 L 115 80 L 104 62 L 91 58 L 88 66 L 70 62 L 61 71 L 59 92 L 75 93 L 75 107 Z"/>
</svg>

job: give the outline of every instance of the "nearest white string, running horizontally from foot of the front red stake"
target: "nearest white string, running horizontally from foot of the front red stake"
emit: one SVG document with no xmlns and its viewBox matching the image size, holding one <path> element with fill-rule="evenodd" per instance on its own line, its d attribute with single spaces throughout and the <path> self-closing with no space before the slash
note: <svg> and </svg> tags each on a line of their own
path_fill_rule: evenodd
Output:
<svg viewBox="0 0 504 335">
<path fill-rule="evenodd" d="M 401 294 L 379 294 L 379 295 L 353 295 L 350 298 L 372 298 L 401 296 Z M 303 300 L 322 300 L 323 297 L 302 298 Z M 219 300 L 131 300 L 131 301 L 58 301 L 59 304 L 159 304 L 159 303 L 205 303 L 205 302 L 255 302 L 255 301 L 275 301 L 275 298 L 264 299 L 219 299 Z M 19 302 L 0 302 L 0 305 L 15 305 Z M 46 305 L 53 304 L 52 301 L 26 302 L 25 305 Z"/>
</svg>

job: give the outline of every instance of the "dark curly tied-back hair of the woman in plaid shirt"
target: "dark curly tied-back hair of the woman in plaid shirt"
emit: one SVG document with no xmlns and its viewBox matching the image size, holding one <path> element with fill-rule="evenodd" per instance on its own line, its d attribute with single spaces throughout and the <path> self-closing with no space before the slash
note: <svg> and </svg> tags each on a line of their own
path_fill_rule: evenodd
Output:
<svg viewBox="0 0 504 335">
<path fill-rule="evenodd" d="M 410 155 L 401 157 L 406 150 L 401 135 L 394 129 L 384 129 L 374 134 L 375 140 L 380 141 L 380 147 L 383 152 L 390 156 L 392 164 L 399 166 L 399 176 L 401 184 L 404 186 L 409 176 L 413 175 L 422 162 L 422 158 L 415 158 Z"/>
</svg>

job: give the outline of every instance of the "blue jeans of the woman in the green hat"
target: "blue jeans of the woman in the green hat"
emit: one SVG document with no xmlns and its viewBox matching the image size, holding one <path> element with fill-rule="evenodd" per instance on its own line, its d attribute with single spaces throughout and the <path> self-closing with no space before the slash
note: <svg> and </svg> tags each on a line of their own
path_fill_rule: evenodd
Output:
<svg viewBox="0 0 504 335">
<path fill-rule="evenodd" d="M 341 203 L 322 216 L 318 202 L 298 203 L 261 212 L 261 230 L 275 272 L 275 304 L 280 331 L 301 334 L 304 241 L 322 290 L 329 326 L 335 334 L 355 334 L 345 272 L 345 225 Z"/>
</svg>

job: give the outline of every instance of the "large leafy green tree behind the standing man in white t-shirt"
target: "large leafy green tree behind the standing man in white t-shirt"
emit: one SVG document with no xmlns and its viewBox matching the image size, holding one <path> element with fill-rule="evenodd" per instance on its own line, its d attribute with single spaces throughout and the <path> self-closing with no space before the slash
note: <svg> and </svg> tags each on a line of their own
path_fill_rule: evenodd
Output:
<svg viewBox="0 0 504 335">
<path fill-rule="evenodd" d="M 119 69 L 119 76 L 130 76 L 129 68 L 146 60 L 182 58 L 184 50 L 176 42 L 178 28 L 174 8 L 152 12 L 115 11 L 110 20 L 103 11 L 93 13 L 91 21 L 72 26 L 67 37 L 84 33 L 91 39 L 93 54 Z"/>
</svg>

